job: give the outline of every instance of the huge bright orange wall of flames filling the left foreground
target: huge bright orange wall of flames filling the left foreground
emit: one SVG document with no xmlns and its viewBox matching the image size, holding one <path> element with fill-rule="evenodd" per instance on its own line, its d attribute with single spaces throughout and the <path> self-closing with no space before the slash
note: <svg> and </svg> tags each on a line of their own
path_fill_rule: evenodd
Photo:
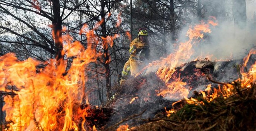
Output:
<svg viewBox="0 0 256 131">
<path fill-rule="evenodd" d="M 12 53 L 0 57 L 0 89 L 13 94 L 4 97 L 6 121 L 10 121 L 5 130 L 79 130 L 78 124 L 85 124 L 90 106 L 81 109 L 80 105 L 86 97 L 86 67 L 102 55 L 96 47 L 112 46 L 118 35 L 99 37 L 88 25 L 80 30 L 82 34 L 87 37 L 86 49 L 80 42 L 72 42 L 68 34 L 62 35 L 63 55 L 73 58 L 69 67 L 66 60 L 56 67 L 55 59 L 21 61 Z M 59 71 L 59 67 L 67 71 Z"/>
</svg>

